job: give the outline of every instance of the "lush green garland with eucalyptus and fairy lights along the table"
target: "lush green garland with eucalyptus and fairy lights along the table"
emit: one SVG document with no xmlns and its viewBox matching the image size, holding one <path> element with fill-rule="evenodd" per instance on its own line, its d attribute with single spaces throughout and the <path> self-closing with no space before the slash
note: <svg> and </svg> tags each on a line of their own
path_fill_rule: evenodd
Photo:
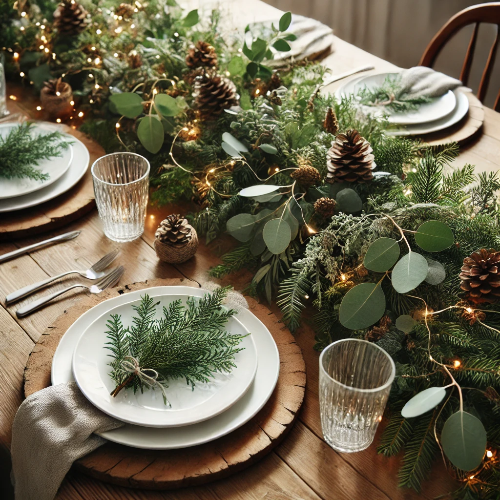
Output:
<svg viewBox="0 0 500 500">
<path fill-rule="evenodd" d="M 385 135 L 384 118 L 363 117 L 352 101 L 319 93 L 326 71 L 320 64 L 298 61 L 272 71 L 271 47 L 286 49 L 293 39 L 288 13 L 269 39 L 252 33 L 226 40 L 216 12 L 199 21 L 197 12 L 185 14 L 171 0 L 152 0 L 129 20 L 114 18 L 118 1 L 81 3 L 92 24 L 65 40 L 51 27 L 55 2 L 24 17 L 2 9 L 10 78 L 20 71 L 39 87 L 64 73 L 85 113 L 82 129 L 108 152 L 127 148 L 148 157 L 153 200 L 194 198 L 201 209 L 192 223 L 207 242 L 232 234 L 241 244 L 222 256 L 213 276 L 253 269 L 248 291 L 269 301 L 277 296 L 291 330 L 303 308 L 314 306 L 318 349 L 354 336 L 393 357 L 397 377 L 378 450 L 393 455 L 404 448 L 401 485 L 419 490 L 442 446 L 461 482 L 451 497 L 496 498 L 500 308 L 468 302 L 458 273 L 473 251 L 500 248 L 498 174 L 476 176 L 470 165 L 451 170 L 453 144 L 427 147 Z M 43 18 L 46 42 L 36 26 Z M 48 54 L 40 52 L 40 40 Z M 198 41 L 214 47 L 216 74 L 229 77 L 239 95 L 239 106 L 211 119 L 197 117 L 196 75 L 185 60 Z M 327 151 L 349 129 L 373 149 L 373 179 L 329 184 Z M 298 173 L 304 167 L 308 181 Z M 319 198 L 334 206 L 333 215 L 314 207 Z M 393 261 L 381 257 L 380 245 L 390 248 Z M 408 260 L 415 272 L 401 277 L 400 262 Z M 377 314 L 353 314 L 358 291 L 368 287 L 376 290 L 370 309 Z M 364 323 L 352 323 L 357 316 Z M 401 411 L 411 414 L 411 398 L 424 389 L 445 397 L 421 416 L 404 417 Z M 482 445 L 482 429 L 487 438 L 486 454 L 466 471 L 473 467 L 449 446 L 453 415 L 464 413 L 475 418 L 469 422 L 476 443 Z M 477 461 L 480 449 L 472 451 Z"/>
</svg>

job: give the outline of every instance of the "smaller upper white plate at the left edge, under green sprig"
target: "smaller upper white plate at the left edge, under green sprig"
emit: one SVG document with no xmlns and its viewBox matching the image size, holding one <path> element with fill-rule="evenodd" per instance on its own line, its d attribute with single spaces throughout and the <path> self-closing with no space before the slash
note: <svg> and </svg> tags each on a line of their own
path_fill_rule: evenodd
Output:
<svg viewBox="0 0 500 500">
<path fill-rule="evenodd" d="M 0 125 L 0 137 L 5 139 L 9 132 L 14 128 L 18 128 L 19 123 L 3 123 Z M 51 130 L 46 130 L 39 125 L 34 125 L 31 129 L 31 135 L 38 134 L 46 135 Z M 64 137 L 64 140 L 65 137 Z M 33 165 L 40 169 L 43 173 L 48 173 L 49 177 L 46 180 L 34 180 L 27 177 L 14 177 L 11 179 L 1 178 L 0 180 L 0 199 L 13 198 L 23 196 L 38 189 L 45 188 L 60 178 L 69 168 L 73 159 L 73 148 L 71 145 L 67 149 L 61 151 L 61 156 L 52 156 L 48 159 L 43 159 L 38 162 L 38 165 Z"/>
</svg>

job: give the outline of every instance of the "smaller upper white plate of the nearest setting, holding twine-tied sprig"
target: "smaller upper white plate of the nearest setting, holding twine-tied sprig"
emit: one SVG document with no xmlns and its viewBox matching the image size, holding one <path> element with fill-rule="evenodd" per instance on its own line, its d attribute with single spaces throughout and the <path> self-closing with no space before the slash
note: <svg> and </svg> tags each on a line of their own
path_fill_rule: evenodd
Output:
<svg viewBox="0 0 500 500">
<path fill-rule="evenodd" d="M 146 293 L 145 290 L 143 293 Z M 192 296 L 192 295 L 190 295 Z M 154 295 L 156 319 L 163 317 L 162 308 L 174 300 L 186 306 L 188 295 Z M 232 406 L 250 387 L 257 370 L 257 351 L 249 332 L 238 319 L 231 316 L 222 326 L 231 334 L 246 335 L 238 344 L 243 350 L 234 355 L 236 365 L 229 373 L 215 373 L 209 382 L 198 382 L 191 390 L 184 378 L 169 380 L 165 389 L 171 407 L 163 402 L 159 388 L 145 389 L 142 393 L 126 389 L 116 397 L 110 395 L 115 388 L 109 372 L 110 351 L 106 331 L 111 314 L 121 316 L 124 327 L 132 325 L 140 298 L 117 305 L 88 325 L 73 353 L 73 376 L 85 397 L 104 413 L 127 423 L 146 427 L 179 427 L 212 418 Z M 248 333 L 250 333 L 248 335 Z M 143 366 L 146 368 L 147 366 Z"/>
</svg>

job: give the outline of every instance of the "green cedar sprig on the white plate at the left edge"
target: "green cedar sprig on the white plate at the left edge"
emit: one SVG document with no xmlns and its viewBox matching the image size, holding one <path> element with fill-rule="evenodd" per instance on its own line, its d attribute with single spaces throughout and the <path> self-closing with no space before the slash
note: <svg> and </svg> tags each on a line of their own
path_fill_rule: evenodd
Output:
<svg viewBox="0 0 500 500">
<path fill-rule="evenodd" d="M 49 178 L 48 173 L 36 166 L 43 159 L 62 156 L 69 142 L 62 140 L 59 132 L 33 135 L 32 129 L 32 124 L 22 123 L 6 137 L 0 137 L 0 177 L 28 177 L 32 180 Z"/>
</svg>

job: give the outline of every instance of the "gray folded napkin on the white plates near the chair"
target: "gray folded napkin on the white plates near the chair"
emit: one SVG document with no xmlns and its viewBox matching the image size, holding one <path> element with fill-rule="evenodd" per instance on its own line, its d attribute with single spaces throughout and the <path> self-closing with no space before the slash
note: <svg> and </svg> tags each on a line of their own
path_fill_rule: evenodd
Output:
<svg viewBox="0 0 500 500">
<path fill-rule="evenodd" d="M 401 93 L 408 97 L 439 97 L 461 84 L 460 80 L 425 66 L 410 67 L 400 73 Z"/>
</svg>

